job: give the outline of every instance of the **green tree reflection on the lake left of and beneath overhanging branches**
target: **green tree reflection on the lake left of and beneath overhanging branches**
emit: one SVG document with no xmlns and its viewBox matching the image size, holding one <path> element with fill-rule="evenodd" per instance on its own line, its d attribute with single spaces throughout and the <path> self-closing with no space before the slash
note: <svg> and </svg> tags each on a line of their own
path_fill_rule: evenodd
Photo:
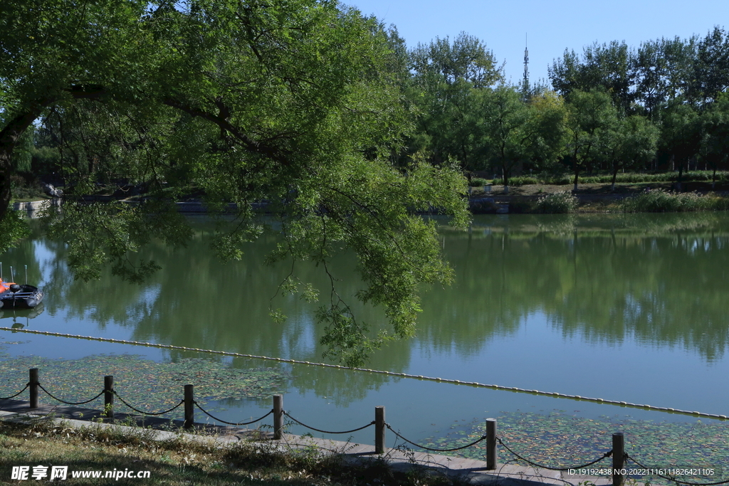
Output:
<svg viewBox="0 0 729 486">
<path fill-rule="evenodd" d="M 263 264 L 277 238 L 260 238 L 241 261 L 223 263 L 210 250 L 208 236 L 198 232 L 188 247 L 177 253 L 155 244 L 146 248 L 139 257 L 160 262 L 163 270 L 142 286 L 120 282 L 111 275 L 90 283 L 74 282 L 61 263 L 54 267 L 47 289 L 54 294 L 58 307 L 66 308 L 69 319 L 95 321 L 102 329 L 107 322 L 130 327 L 133 340 L 321 361 L 319 337 L 324 329 L 313 317 L 316 305 L 296 295 L 279 296 L 273 307 L 284 308 L 289 320 L 274 324 L 270 319 L 270 299 L 289 270 L 283 265 L 272 268 Z M 57 255 L 56 260 L 62 262 L 63 245 L 49 243 L 49 247 Z M 354 259 L 340 256 L 332 268 L 340 272 L 340 293 L 354 295 L 359 281 L 346 278 L 354 271 L 350 270 L 354 269 Z M 301 264 L 297 275 L 318 286 L 322 299 L 328 296 L 324 292 L 328 281 L 320 269 Z M 354 304 L 354 297 L 351 300 Z M 376 310 L 353 307 L 362 320 L 381 321 L 381 313 Z M 380 354 L 371 366 L 394 371 L 408 367 L 409 348 Z M 172 359 L 183 355 L 176 350 L 169 352 Z M 306 367 L 305 374 L 294 376 L 292 385 L 301 390 L 313 389 L 324 396 L 336 390 L 337 400 L 347 403 L 362 399 L 368 389 L 379 388 L 387 380 L 381 375 L 359 373 L 345 377 L 332 369 Z"/>
</svg>

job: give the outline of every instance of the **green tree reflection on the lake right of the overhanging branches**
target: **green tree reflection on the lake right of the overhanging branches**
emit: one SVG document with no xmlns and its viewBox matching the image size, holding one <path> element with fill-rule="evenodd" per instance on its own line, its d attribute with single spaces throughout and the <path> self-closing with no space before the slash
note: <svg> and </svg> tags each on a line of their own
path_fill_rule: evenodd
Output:
<svg viewBox="0 0 729 486">
<path fill-rule="evenodd" d="M 534 216 L 501 227 L 487 220 L 485 229 L 451 238 L 446 252 L 457 286 L 426 298 L 427 313 L 440 310 L 426 332 L 435 331 L 434 342 L 458 339 L 464 352 L 476 353 L 488 333 L 474 328 L 513 332 L 525 315 L 543 311 L 566 336 L 580 332 L 588 342 L 634 337 L 720 358 L 728 344 L 729 232 L 711 228 L 727 216 L 639 216 L 601 226 L 594 217 L 558 218 L 556 233 L 549 224 L 537 228 Z M 512 230 L 520 225 L 526 231 Z M 453 322 L 458 326 L 449 329 Z"/>
</svg>

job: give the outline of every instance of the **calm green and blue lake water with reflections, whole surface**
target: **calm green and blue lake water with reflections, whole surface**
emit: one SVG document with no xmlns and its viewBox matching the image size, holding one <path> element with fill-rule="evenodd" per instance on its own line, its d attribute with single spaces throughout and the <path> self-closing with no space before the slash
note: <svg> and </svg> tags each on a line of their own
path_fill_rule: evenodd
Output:
<svg viewBox="0 0 729 486">
<path fill-rule="evenodd" d="M 199 230 L 183 251 L 171 253 L 163 246 L 144 251 L 144 258 L 155 259 L 163 270 L 142 286 L 111 275 L 76 282 L 66 268 L 63 245 L 44 238 L 24 241 L 1 256 L 5 277 L 10 265 L 22 269 L 28 264 L 28 280 L 46 292 L 44 307 L 33 318 L 3 310 L 0 325 L 321 361 L 323 329 L 314 318 L 316 305 L 279 296 L 273 307 L 281 307 L 288 321 L 273 324 L 268 317 L 270 299 L 288 271 L 284 265 L 263 264 L 276 235 L 251 243 L 241 261 L 221 263 L 209 250 L 206 222 L 195 224 Z M 378 351 L 368 367 L 729 415 L 727 214 L 478 216 L 467 232 L 444 225 L 440 238 L 456 270 L 455 283 L 425 289 L 417 337 Z M 360 288 L 355 263 L 351 255 L 332 263 L 345 296 Z M 303 264 L 299 275 L 327 289 L 316 267 Z M 380 310 L 353 307 L 373 327 L 383 322 Z M 242 370 L 235 383 L 254 383 L 252 393 L 221 388 L 208 396 L 208 406 L 230 421 L 268 412 L 270 389 L 284 393 L 284 408 L 314 427 L 362 426 L 373 420 L 376 405 L 385 405 L 393 428 L 432 444 L 475 434 L 488 417 L 503 420 L 503 433 L 511 431 L 517 444 L 554 436 L 557 431 L 538 432 L 550 423 L 564 434 L 570 427 L 584 429 L 596 450 L 601 446 L 594 444 L 602 439 L 602 449 L 608 450 L 610 434 L 621 429 L 643 434 L 647 444 L 660 429 L 652 427 L 664 422 L 668 428 L 660 430 L 676 437 L 690 435 L 685 428 L 703 427 L 711 439 L 693 439 L 694 444 L 729 439 L 729 423 L 717 420 L 349 370 L 7 331 L 0 332 L 0 346 L 0 396 L 9 395 L 15 385 L 22 388 L 34 362 L 41 364 L 42 377 L 44 367 L 69 369 L 71 376 L 92 369 L 101 387 L 111 365 L 89 356 L 110 355 L 118 365 L 115 378 L 147 369 L 145 360 L 179 364 L 179 369 L 165 371 L 176 374 L 179 383 L 195 376 L 222 383 L 230 374 L 225 369 Z M 125 353 L 140 356 L 120 356 Z M 199 367 L 198 358 L 219 361 L 217 374 Z M 59 384 L 59 393 L 74 392 L 78 379 L 71 381 Z M 167 402 L 156 407 L 155 385 L 147 386 L 147 407 L 163 409 Z M 534 426 L 539 421 L 542 428 Z M 599 427 L 590 425 L 594 423 Z M 374 431 L 349 436 L 372 443 Z M 628 436 L 628 444 L 630 440 Z M 388 445 L 393 444 L 390 434 Z M 572 451 L 560 456 L 553 450 L 559 447 L 550 444 L 552 449 L 534 454 L 563 457 L 567 463 L 582 455 Z M 583 451 L 585 458 L 592 457 L 590 451 Z M 643 452 L 647 457 L 654 453 Z M 660 451 L 655 454 L 663 457 Z M 726 459 L 725 452 L 717 454 Z M 684 459 L 689 466 L 692 459 Z"/>
</svg>

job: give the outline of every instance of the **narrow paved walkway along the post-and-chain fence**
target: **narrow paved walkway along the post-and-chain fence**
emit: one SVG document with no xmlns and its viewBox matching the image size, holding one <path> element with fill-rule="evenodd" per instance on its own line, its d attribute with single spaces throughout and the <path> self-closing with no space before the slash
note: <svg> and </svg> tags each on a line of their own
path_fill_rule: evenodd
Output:
<svg viewBox="0 0 729 486">
<path fill-rule="evenodd" d="M 52 416 L 52 420 L 64 421 L 73 427 L 122 427 L 109 423 L 109 419 L 101 416 L 101 411 L 84 409 L 70 406 L 57 406 L 41 404 L 37 409 L 29 409 L 27 401 L 1 400 L 0 420 L 28 420 L 28 418 L 40 418 Z M 152 426 L 160 429 L 156 432 L 158 440 L 171 439 L 179 436 L 178 430 L 182 428 L 181 420 L 169 420 L 163 418 L 141 417 L 117 413 L 114 415 L 116 422 L 136 423 L 139 426 Z M 91 422 L 91 420 L 103 420 Z M 271 434 L 261 433 L 257 430 L 211 426 L 210 424 L 195 423 L 195 430 L 198 434 L 183 434 L 191 441 L 216 442 L 225 444 L 238 442 L 242 439 L 272 439 Z M 272 442 L 273 443 L 273 442 Z M 579 485 L 581 482 L 590 481 L 595 485 L 609 485 L 611 481 L 604 477 L 588 476 L 567 476 L 561 471 L 550 471 L 548 469 L 537 469 L 533 467 L 518 466 L 515 464 L 497 463 L 494 470 L 486 468 L 486 462 L 482 460 L 456 458 L 447 455 L 437 455 L 429 452 L 415 452 L 399 449 L 387 449 L 384 454 L 375 453 L 375 447 L 368 444 L 353 444 L 351 442 L 340 442 L 329 439 L 316 439 L 309 436 L 295 436 L 284 434 L 284 438 L 278 441 L 280 450 L 306 450 L 316 447 L 325 453 L 340 454 L 346 463 L 359 463 L 367 460 L 384 460 L 395 471 L 408 471 L 418 468 L 432 471 L 434 474 L 445 474 L 449 477 L 458 477 L 464 482 L 472 485 L 499 485 L 499 486 L 537 486 L 537 485 Z M 506 451 L 501 455 L 510 455 Z M 600 463 L 603 467 L 612 466 L 609 460 Z"/>
</svg>

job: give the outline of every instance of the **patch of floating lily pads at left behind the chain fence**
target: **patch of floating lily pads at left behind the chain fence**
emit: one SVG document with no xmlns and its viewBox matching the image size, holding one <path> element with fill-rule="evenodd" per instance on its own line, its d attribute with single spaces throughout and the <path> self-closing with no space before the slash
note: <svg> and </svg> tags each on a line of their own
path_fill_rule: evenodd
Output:
<svg viewBox="0 0 729 486">
<path fill-rule="evenodd" d="M 204 406 L 210 401 L 270 400 L 273 393 L 282 393 L 287 380 L 278 369 L 231 367 L 206 358 L 157 363 L 134 354 L 66 360 L 0 353 L 0 396 L 10 396 L 23 388 L 31 368 L 39 369 L 39 383 L 47 391 L 70 402 L 92 398 L 104 389 L 104 376 L 112 375 L 117 394 L 146 412 L 161 412 L 179 404 L 188 383 L 195 385 L 195 401 Z M 21 394 L 19 398 L 25 397 Z M 42 401 L 52 399 L 42 393 Z M 84 407 L 101 409 L 104 399 L 99 397 Z M 114 408 L 128 411 L 119 401 Z"/>
</svg>

